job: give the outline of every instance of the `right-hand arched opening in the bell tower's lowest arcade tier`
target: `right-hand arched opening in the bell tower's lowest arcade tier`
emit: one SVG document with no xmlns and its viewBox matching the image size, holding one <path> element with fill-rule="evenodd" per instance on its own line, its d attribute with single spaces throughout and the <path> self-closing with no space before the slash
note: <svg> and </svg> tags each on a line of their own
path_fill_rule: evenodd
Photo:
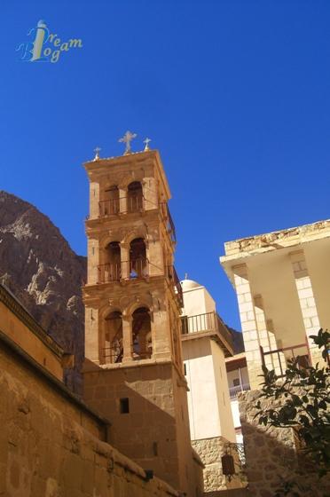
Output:
<svg viewBox="0 0 330 497">
<path fill-rule="evenodd" d="M 133 359 L 150 359 L 153 355 L 149 309 L 139 307 L 132 314 Z"/>
</svg>

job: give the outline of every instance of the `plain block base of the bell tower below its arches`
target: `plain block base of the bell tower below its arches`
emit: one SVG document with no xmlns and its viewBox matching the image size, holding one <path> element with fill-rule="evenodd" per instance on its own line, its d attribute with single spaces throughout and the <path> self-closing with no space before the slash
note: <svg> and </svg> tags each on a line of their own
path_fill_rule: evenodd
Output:
<svg viewBox="0 0 330 497">
<path fill-rule="evenodd" d="M 85 364 L 92 371 L 84 375 L 83 398 L 111 420 L 109 443 L 179 488 L 179 461 L 192 459 L 193 447 L 186 428 L 188 414 L 177 405 L 183 387 L 173 380 L 171 367 L 100 369 L 88 360 Z M 187 446 L 190 454 L 185 453 Z M 190 485 L 194 479 L 193 493 L 203 495 L 202 468 L 195 462 L 193 473 L 188 465 L 184 471 Z"/>
</svg>

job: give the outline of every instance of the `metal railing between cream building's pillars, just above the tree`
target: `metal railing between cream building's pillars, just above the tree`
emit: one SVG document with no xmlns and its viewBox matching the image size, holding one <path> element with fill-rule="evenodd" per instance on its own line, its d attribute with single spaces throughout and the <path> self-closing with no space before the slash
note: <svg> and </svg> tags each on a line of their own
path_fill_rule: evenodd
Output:
<svg viewBox="0 0 330 497">
<path fill-rule="evenodd" d="M 298 349 L 305 349 L 305 353 L 296 353 Z M 263 367 L 266 367 L 266 356 L 271 356 L 271 359 L 275 357 L 275 373 L 279 378 L 286 375 L 287 360 L 298 358 L 298 367 L 304 368 L 311 366 L 310 359 L 310 347 L 306 338 L 305 343 L 300 343 L 299 345 L 291 345 L 289 347 L 282 347 L 281 349 L 276 349 L 274 351 L 263 351 L 263 347 L 260 346 L 260 353 L 262 357 Z M 273 362 L 273 360 L 272 360 Z M 269 367 L 268 367 L 269 368 Z"/>
</svg>

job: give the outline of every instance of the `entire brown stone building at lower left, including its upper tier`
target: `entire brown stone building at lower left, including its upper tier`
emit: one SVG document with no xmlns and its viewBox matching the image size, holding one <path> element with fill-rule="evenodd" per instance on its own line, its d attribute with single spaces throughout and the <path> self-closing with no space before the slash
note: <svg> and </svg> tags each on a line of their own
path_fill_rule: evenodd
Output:
<svg viewBox="0 0 330 497">
<path fill-rule="evenodd" d="M 0 285 L 0 494 L 179 497 L 109 445 L 111 423 L 62 382 L 70 362 Z"/>
</svg>

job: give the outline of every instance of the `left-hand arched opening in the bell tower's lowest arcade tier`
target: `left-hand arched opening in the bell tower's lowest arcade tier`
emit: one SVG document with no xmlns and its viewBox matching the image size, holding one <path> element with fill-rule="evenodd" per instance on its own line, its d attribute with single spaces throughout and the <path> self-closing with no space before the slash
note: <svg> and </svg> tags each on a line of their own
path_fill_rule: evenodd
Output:
<svg viewBox="0 0 330 497">
<path fill-rule="evenodd" d="M 122 312 L 110 312 L 106 316 L 105 327 L 105 364 L 122 362 Z"/>
</svg>

